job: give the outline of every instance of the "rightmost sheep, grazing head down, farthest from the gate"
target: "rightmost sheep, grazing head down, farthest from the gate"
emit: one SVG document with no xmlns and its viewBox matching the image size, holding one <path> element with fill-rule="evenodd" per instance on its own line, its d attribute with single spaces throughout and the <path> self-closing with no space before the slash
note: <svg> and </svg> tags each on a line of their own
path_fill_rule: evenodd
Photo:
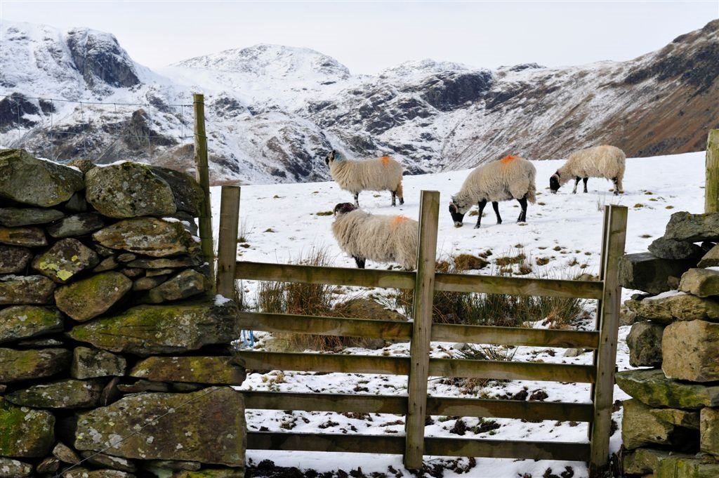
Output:
<svg viewBox="0 0 719 478">
<path fill-rule="evenodd" d="M 614 194 L 618 195 L 624 192 L 622 179 L 625 162 L 624 152 L 618 147 L 607 144 L 575 151 L 569 155 L 567 162 L 557 170 L 557 173 L 551 175 L 549 188 L 552 193 L 557 193 L 559 186 L 574 178 L 572 194 L 576 194 L 577 185 L 580 179 L 583 179 L 586 193 L 589 178 L 607 178 L 614 183 Z"/>
</svg>

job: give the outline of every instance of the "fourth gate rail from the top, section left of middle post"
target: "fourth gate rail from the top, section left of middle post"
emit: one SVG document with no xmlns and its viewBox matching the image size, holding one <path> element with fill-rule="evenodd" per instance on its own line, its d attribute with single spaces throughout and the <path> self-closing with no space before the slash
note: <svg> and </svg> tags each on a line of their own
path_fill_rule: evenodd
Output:
<svg viewBox="0 0 719 478">
<path fill-rule="evenodd" d="M 242 395 L 244 395 L 245 409 L 407 414 L 407 397 L 403 396 L 255 392 L 247 390 L 243 390 Z"/>
</svg>

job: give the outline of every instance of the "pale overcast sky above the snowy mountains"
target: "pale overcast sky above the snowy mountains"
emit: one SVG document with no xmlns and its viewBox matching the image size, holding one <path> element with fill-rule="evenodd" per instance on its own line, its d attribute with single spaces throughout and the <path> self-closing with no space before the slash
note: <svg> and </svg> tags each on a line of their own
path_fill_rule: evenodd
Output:
<svg viewBox="0 0 719 478">
<path fill-rule="evenodd" d="M 150 68 L 272 43 L 312 48 L 352 73 L 423 58 L 482 68 L 628 60 L 718 17 L 719 0 L 0 0 L 0 21 L 111 32 Z"/>
</svg>

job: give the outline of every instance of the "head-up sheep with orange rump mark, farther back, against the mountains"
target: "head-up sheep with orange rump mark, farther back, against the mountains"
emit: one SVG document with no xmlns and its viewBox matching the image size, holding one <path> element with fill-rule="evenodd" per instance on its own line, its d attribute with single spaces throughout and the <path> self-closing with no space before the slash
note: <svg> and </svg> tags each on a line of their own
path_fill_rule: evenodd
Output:
<svg viewBox="0 0 719 478">
<path fill-rule="evenodd" d="M 329 173 L 339 187 L 354 195 L 354 206 L 359 208 L 360 191 L 384 191 L 392 193 L 392 206 L 404 204 L 402 196 L 402 165 L 388 156 L 374 160 L 346 160 L 339 152 L 331 150 L 324 162 L 329 165 Z"/>
</svg>

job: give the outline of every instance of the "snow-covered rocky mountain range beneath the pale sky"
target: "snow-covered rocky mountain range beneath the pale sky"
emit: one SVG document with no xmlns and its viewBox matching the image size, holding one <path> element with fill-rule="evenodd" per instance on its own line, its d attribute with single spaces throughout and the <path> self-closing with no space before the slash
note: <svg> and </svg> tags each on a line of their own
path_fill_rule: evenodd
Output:
<svg viewBox="0 0 719 478">
<path fill-rule="evenodd" d="M 702 150 L 719 127 L 719 20 L 626 62 L 498 70 L 423 60 L 352 75 L 307 48 L 255 45 L 152 71 L 113 35 L 2 21 L 0 144 L 193 169 L 205 96 L 211 180 L 329 178 L 324 155 L 393 155 L 408 173 L 534 160 L 610 143 L 630 157 Z"/>
</svg>

